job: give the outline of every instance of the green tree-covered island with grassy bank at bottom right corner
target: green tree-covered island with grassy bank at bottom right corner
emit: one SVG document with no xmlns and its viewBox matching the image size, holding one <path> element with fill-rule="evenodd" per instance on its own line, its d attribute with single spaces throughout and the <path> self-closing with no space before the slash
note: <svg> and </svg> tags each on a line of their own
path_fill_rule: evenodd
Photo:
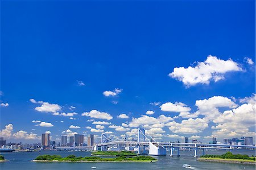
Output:
<svg viewBox="0 0 256 170">
<path fill-rule="evenodd" d="M 256 165 L 255 157 L 249 157 L 248 155 L 232 154 L 232 152 L 226 152 L 222 155 L 202 155 L 197 160 L 199 161 L 212 161 L 221 163 L 236 163 L 236 164 L 253 164 Z"/>
</svg>

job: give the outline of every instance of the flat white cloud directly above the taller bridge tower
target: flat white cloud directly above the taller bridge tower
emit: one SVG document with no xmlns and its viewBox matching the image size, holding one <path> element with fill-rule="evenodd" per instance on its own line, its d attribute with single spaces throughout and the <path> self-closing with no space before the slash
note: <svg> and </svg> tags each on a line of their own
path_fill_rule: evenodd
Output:
<svg viewBox="0 0 256 170">
<path fill-rule="evenodd" d="M 160 115 L 158 118 L 149 117 L 147 115 L 142 115 L 139 118 L 133 118 L 129 123 L 129 127 L 139 127 L 141 125 L 153 125 L 155 123 L 166 123 L 172 121 L 171 117 L 166 117 L 165 115 Z"/>
</svg>

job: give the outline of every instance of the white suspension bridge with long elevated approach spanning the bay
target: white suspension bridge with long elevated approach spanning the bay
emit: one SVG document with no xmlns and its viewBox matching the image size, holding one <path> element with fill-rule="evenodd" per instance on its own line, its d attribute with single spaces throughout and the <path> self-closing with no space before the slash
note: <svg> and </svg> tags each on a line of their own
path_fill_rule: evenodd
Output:
<svg viewBox="0 0 256 170">
<path fill-rule="evenodd" d="M 148 138 L 149 137 L 149 138 Z M 177 156 L 180 156 L 180 148 L 188 148 L 194 151 L 194 156 L 197 157 L 197 151 L 205 150 L 234 150 L 238 148 L 250 148 L 256 149 L 256 146 L 249 145 L 237 145 L 237 144 L 209 144 L 209 143 L 171 143 L 171 142 L 156 142 L 150 135 L 148 137 L 145 134 L 144 128 L 138 128 L 137 141 L 125 141 L 114 140 L 110 138 L 108 134 L 101 134 L 101 143 L 96 144 L 93 147 L 94 151 L 107 151 L 111 146 L 135 146 L 137 147 L 137 154 L 146 154 L 146 148 L 148 148 L 148 155 L 166 155 L 166 151 L 170 150 L 170 156 L 174 156 L 174 151 L 177 151 Z M 61 149 L 64 147 L 57 147 Z M 67 148 L 67 147 L 66 147 Z M 72 147 L 74 148 L 74 147 Z M 79 147 L 88 148 L 88 147 Z"/>
</svg>

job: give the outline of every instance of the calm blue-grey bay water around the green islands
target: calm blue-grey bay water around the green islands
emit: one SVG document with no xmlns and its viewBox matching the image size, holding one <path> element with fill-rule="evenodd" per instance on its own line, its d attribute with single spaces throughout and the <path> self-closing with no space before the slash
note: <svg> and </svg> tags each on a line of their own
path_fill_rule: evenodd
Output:
<svg viewBox="0 0 256 170">
<path fill-rule="evenodd" d="M 226 151 L 205 151 L 205 154 L 223 154 Z M 176 152 L 174 152 L 176 154 Z M 234 154 L 255 155 L 255 151 L 251 150 L 234 150 Z M 11 169 L 187 169 L 183 168 L 183 164 L 189 164 L 193 169 L 255 169 L 254 165 L 242 164 L 227 164 L 227 163 L 208 163 L 196 161 L 193 157 L 193 151 L 180 151 L 180 157 L 174 156 L 154 156 L 158 161 L 156 163 L 35 163 L 31 160 L 38 155 L 43 154 L 57 154 L 61 156 L 68 156 L 74 154 L 76 156 L 89 156 L 90 152 L 67 152 L 67 151 L 40 151 L 40 152 L 15 152 L 2 154 L 9 161 L 0 163 L 1 170 Z M 170 154 L 170 153 L 169 153 Z M 201 152 L 198 152 L 200 155 Z"/>
</svg>

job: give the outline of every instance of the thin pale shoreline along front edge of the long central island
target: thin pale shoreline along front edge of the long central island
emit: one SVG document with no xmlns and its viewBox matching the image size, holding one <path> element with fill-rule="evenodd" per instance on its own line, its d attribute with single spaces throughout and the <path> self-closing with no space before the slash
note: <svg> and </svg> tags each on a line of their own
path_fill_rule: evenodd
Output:
<svg viewBox="0 0 256 170">
<path fill-rule="evenodd" d="M 119 160 L 119 161 L 106 161 L 106 160 L 76 160 L 76 161 L 71 161 L 71 160 L 31 160 L 31 161 L 33 161 L 33 162 L 45 162 L 45 163 L 47 163 L 47 162 L 67 162 L 67 163 L 92 163 L 92 162 L 98 162 L 98 163 L 100 163 L 100 162 L 104 162 L 104 163 L 106 163 L 106 162 L 109 162 L 109 163 L 119 163 L 119 162 L 138 162 L 138 163 L 150 163 L 151 162 L 151 160 L 150 161 L 134 161 L 134 160 Z M 157 160 L 152 160 L 152 162 L 156 162 Z"/>
</svg>

